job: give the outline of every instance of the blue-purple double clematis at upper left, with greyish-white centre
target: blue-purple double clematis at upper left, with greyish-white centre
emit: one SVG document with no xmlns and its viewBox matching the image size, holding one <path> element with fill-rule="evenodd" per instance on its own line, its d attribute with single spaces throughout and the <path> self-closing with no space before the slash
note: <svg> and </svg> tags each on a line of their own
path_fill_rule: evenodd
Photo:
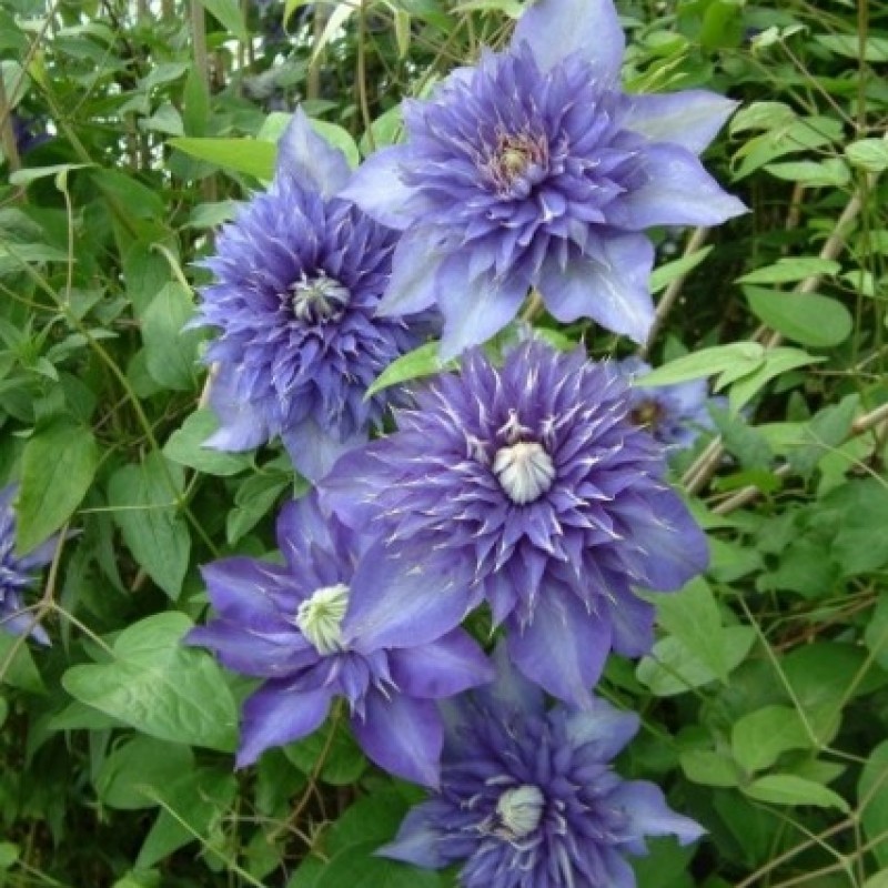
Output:
<svg viewBox="0 0 888 888">
<path fill-rule="evenodd" d="M 374 316 L 396 234 L 337 196 L 350 176 L 342 152 L 296 111 L 270 190 L 206 261 L 216 282 L 198 319 L 220 331 L 205 360 L 218 363 L 210 403 L 221 427 L 206 444 L 243 451 L 280 435 L 312 481 L 366 441 L 393 396 L 365 400 L 367 386 L 427 333 Z"/>
</svg>

